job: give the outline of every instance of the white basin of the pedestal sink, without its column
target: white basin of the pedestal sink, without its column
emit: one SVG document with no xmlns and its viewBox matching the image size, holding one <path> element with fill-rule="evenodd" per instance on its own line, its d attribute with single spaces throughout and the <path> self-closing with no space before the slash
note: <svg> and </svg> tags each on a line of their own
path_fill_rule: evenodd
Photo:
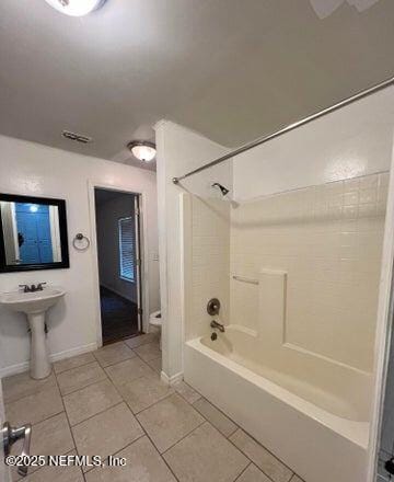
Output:
<svg viewBox="0 0 394 482">
<path fill-rule="evenodd" d="M 34 292 L 2 292 L 0 294 L 0 305 L 4 305 L 9 310 L 22 311 L 26 314 L 42 313 L 56 305 L 65 294 L 65 290 L 51 287 Z"/>
</svg>

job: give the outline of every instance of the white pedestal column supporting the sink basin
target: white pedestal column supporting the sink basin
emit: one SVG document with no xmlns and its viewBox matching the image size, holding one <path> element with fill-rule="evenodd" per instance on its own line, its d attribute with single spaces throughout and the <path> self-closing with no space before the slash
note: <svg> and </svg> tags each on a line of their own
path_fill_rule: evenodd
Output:
<svg viewBox="0 0 394 482">
<path fill-rule="evenodd" d="M 46 378 L 51 366 L 45 335 L 45 312 L 28 313 L 27 319 L 32 331 L 31 376 L 35 379 Z"/>
</svg>

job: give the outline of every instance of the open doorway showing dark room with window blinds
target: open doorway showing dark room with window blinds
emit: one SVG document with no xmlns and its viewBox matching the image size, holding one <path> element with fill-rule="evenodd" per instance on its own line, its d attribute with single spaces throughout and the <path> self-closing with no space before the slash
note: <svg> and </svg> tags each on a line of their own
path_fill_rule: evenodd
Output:
<svg viewBox="0 0 394 482">
<path fill-rule="evenodd" d="M 140 195 L 94 188 L 103 345 L 141 332 Z"/>
</svg>

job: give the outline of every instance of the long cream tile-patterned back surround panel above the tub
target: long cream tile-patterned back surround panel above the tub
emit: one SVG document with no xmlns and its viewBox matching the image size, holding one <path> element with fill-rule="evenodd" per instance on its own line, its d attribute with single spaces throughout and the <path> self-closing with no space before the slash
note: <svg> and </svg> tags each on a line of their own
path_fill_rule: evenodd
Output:
<svg viewBox="0 0 394 482">
<path fill-rule="evenodd" d="M 258 286 L 232 279 L 231 323 L 264 344 L 371 372 L 387 183 L 387 173 L 373 174 L 232 209 L 231 274 L 258 279 L 279 269 L 286 284 L 275 306 L 280 274 L 266 273 Z M 283 315 L 271 325 L 275 310 Z"/>
</svg>

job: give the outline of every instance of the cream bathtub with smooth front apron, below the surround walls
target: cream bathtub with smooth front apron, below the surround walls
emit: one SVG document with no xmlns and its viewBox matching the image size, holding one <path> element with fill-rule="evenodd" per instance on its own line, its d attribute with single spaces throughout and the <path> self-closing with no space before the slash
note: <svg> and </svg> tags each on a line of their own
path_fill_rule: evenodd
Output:
<svg viewBox="0 0 394 482">
<path fill-rule="evenodd" d="M 186 342 L 185 380 L 306 482 L 366 481 L 368 374 L 290 348 L 275 358 L 230 325 Z"/>
</svg>

